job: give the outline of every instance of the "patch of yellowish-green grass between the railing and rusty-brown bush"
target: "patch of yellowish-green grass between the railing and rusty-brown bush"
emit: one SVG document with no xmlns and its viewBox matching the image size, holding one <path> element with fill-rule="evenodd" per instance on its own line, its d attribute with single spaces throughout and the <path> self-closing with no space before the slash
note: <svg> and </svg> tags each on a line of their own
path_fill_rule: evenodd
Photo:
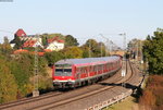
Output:
<svg viewBox="0 0 163 110">
<path fill-rule="evenodd" d="M 129 96 L 123 101 L 110 106 L 103 110 L 138 110 L 138 103 L 134 97 Z"/>
</svg>

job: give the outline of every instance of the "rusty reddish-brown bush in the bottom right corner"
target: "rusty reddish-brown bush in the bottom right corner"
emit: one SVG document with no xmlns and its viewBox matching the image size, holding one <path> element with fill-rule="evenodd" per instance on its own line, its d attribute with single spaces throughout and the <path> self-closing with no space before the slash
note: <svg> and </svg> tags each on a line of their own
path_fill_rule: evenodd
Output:
<svg viewBox="0 0 163 110">
<path fill-rule="evenodd" d="M 139 99 L 141 110 L 163 110 L 163 76 L 151 75 Z"/>
</svg>

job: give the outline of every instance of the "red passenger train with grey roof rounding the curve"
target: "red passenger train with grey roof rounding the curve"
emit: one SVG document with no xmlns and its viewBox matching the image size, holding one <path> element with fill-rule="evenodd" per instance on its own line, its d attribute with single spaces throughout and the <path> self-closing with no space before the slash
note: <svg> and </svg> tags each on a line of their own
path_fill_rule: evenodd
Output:
<svg viewBox="0 0 163 110">
<path fill-rule="evenodd" d="M 95 83 L 122 68 L 122 57 L 66 59 L 53 66 L 52 81 L 57 88 L 71 88 Z"/>
</svg>

